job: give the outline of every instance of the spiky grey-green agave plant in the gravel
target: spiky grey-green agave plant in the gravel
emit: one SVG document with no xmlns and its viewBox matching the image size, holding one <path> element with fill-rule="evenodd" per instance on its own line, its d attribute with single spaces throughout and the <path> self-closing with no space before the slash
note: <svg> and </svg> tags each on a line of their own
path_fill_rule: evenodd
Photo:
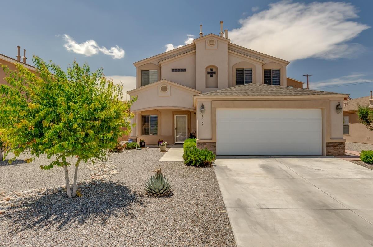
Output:
<svg viewBox="0 0 373 247">
<path fill-rule="evenodd" d="M 145 193 L 149 196 L 167 196 L 171 193 L 171 185 L 159 167 L 145 182 Z"/>
</svg>

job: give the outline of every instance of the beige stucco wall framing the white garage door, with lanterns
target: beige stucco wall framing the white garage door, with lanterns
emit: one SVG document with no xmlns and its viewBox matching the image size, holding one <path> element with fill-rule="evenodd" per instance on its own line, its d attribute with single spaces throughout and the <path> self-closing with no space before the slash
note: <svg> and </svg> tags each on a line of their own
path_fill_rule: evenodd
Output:
<svg viewBox="0 0 373 247">
<path fill-rule="evenodd" d="M 340 101 L 342 101 L 341 99 Z M 204 124 L 201 125 L 201 104 L 204 104 L 206 113 Z M 322 109 L 322 136 L 323 155 L 326 155 L 326 143 L 344 142 L 342 135 L 342 114 L 334 115 L 336 112 L 335 102 L 327 99 L 201 99 L 196 101 L 197 106 L 197 142 L 216 143 L 216 109 Z M 339 123 L 339 124 L 338 124 Z M 333 138 L 332 138 L 333 137 Z"/>
</svg>

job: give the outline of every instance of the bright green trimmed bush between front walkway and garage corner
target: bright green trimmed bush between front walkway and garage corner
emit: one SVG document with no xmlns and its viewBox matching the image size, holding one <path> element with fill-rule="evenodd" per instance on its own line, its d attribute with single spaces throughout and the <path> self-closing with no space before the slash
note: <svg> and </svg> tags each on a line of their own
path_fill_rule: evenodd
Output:
<svg viewBox="0 0 373 247">
<path fill-rule="evenodd" d="M 215 154 L 207 148 L 198 149 L 196 139 L 186 139 L 183 159 L 187 166 L 210 166 L 215 160 Z"/>
</svg>

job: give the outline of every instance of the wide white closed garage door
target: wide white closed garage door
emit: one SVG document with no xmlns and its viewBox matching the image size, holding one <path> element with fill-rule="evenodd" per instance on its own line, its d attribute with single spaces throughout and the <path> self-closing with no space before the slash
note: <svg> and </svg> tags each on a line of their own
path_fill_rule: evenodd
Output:
<svg viewBox="0 0 373 247">
<path fill-rule="evenodd" d="M 321 155 L 321 109 L 217 109 L 218 155 Z"/>
</svg>

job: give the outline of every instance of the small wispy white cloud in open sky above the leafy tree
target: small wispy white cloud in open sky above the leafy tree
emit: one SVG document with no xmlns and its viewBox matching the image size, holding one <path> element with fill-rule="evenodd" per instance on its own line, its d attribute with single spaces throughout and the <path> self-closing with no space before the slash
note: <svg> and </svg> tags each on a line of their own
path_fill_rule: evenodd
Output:
<svg viewBox="0 0 373 247">
<path fill-rule="evenodd" d="M 124 57 L 124 50 L 119 46 L 110 47 L 107 49 L 104 46 L 98 46 L 94 40 L 87 40 L 84 43 L 76 43 L 76 41 L 67 34 L 62 35 L 66 43 L 63 45 L 66 50 L 73 51 L 74 53 L 83 54 L 85 56 L 92 56 L 97 54 L 99 51 L 102 53 L 112 56 L 113 59 L 121 59 Z"/>
</svg>

